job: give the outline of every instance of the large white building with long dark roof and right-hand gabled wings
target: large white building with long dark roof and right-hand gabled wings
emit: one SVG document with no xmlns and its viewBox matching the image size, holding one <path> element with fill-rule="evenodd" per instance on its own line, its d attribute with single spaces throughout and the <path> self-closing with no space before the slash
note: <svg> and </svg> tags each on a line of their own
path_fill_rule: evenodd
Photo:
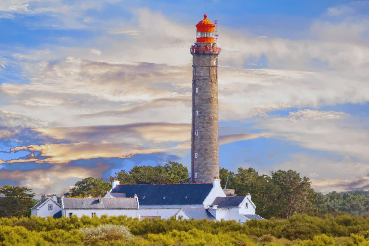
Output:
<svg viewBox="0 0 369 246">
<path fill-rule="evenodd" d="M 220 221 L 262 219 L 255 215 L 255 204 L 251 195 L 246 197 L 227 197 L 220 186 L 220 179 L 213 184 L 119 184 L 112 181 L 106 198 L 134 197 L 139 200 L 139 215 L 143 217 L 172 216 L 182 218 L 213 219 Z"/>
</svg>

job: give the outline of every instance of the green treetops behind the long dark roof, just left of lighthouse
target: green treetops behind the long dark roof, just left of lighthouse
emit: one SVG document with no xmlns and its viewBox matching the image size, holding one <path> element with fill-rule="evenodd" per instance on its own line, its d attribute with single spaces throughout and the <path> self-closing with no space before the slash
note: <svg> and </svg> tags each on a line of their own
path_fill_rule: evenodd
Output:
<svg viewBox="0 0 369 246">
<path fill-rule="evenodd" d="M 164 166 L 134 166 L 129 172 L 121 170 L 110 176 L 121 184 L 168 184 L 188 182 L 188 169 L 177 162 L 168 162 Z"/>
</svg>

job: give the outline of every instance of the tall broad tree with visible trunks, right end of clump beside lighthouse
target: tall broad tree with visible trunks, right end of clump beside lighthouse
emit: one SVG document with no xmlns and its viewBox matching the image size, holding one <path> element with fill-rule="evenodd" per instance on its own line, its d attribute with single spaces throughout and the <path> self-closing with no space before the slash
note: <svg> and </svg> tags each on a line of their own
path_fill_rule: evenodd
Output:
<svg viewBox="0 0 369 246">
<path fill-rule="evenodd" d="M 277 188 L 277 200 L 274 205 L 278 216 L 289 218 L 293 214 L 314 211 L 317 195 L 311 188 L 309 178 L 301 178 L 300 174 L 293 170 L 278 170 L 271 174 L 273 184 Z"/>
</svg>

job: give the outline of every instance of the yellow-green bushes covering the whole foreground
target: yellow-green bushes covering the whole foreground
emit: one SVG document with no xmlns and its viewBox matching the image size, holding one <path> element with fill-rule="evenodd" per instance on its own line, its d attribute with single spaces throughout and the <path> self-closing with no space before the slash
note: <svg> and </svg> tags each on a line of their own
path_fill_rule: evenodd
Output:
<svg viewBox="0 0 369 246">
<path fill-rule="evenodd" d="M 286 220 L 194 221 L 90 218 L 0 218 L 0 245 L 369 246 L 369 218 L 305 214 Z"/>
</svg>

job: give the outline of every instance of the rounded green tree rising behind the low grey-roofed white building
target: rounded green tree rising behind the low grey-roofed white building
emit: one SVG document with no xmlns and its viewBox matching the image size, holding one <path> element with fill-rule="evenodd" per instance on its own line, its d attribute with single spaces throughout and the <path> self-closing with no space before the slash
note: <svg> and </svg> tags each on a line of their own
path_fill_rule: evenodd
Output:
<svg viewBox="0 0 369 246">
<path fill-rule="evenodd" d="M 75 187 L 70 188 L 70 197 L 87 197 L 92 195 L 97 197 L 105 195 L 111 188 L 111 184 L 103 179 L 88 177 L 75 183 Z"/>
</svg>

